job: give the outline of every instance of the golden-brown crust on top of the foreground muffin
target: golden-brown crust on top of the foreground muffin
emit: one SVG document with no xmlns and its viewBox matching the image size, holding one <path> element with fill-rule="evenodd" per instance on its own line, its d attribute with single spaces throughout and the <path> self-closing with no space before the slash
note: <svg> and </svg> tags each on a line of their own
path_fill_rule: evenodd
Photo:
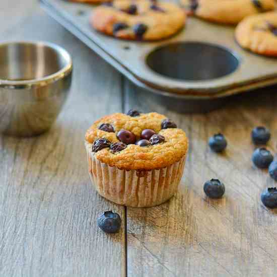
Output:
<svg viewBox="0 0 277 277">
<path fill-rule="evenodd" d="M 120 129 L 131 131 L 136 140 L 139 140 L 144 129 L 153 129 L 156 133 L 165 137 L 165 142 L 147 147 L 129 144 L 117 153 L 112 153 L 109 148 L 95 152 L 95 157 L 109 166 L 120 169 L 152 170 L 172 165 L 179 161 L 188 150 L 188 139 L 185 132 L 179 128 L 162 129 L 164 115 L 156 112 L 141 113 L 131 117 L 123 113 L 114 113 L 104 116 L 94 122 L 87 130 L 86 141 L 92 144 L 99 138 L 107 138 L 111 143 L 119 142 L 116 134 Z M 114 132 L 106 132 L 98 129 L 102 123 L 113 126 Z M 88 145 L 87 145 L 88 146 Z"/>
</svg>

